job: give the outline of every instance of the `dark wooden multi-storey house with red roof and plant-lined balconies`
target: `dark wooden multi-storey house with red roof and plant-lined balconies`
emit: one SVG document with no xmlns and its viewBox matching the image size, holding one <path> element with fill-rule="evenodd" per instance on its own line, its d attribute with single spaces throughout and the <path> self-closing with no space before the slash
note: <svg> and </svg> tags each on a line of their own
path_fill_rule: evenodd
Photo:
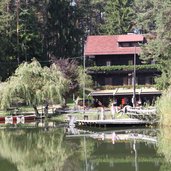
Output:
<svg viewBox="0 0 171 171">
<path fill-rule="evenodd" d="M 111 98 L 111 94 L 107 95 L 103 90 L 124 88 L 122 94 L 113 94 L 112 98 L 118 99 L 117 105 L 122 104 L 123 99 L 126 99 L 125 105 L 131 104 L 135 85 L 136 88 L 144 87 L 146 90 L 150 87 L 143 95 L 136 91 L 136 100 L 141 103 L 152 103 L 161 94 L 151 88 L 154 86 L 154 78 L 160 75 L 157 64 L 154 61 L 144 64 L 139 58 L 141 45 L 146 42 L 140 34 L 88 36 L 85 45 L 86 69 L 94 81 L 95 91 L 91 93 L 94 98 L 107 105 L 109 100 L 106 98 Z M 97 91 L 101 91 L 100 95 Z"/>
</svg>

